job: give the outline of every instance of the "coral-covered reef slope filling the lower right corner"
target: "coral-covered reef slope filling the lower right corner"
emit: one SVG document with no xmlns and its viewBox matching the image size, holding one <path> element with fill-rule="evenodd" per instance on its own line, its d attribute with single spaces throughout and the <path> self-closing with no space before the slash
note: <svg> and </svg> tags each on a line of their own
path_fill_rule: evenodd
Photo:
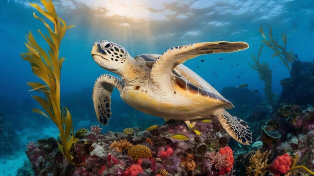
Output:
<svg viewBox="0 0 314 176">
<path fill-rule="evenodd" d="M 273 174 L 280 175 L 289 172 L 288 170 L 290 170 L 292 172 L 290 175 L 309 175 L 308 171 L 303 169 L 303 167 L 306 167 L 311 171 L 314 170 L 313 107 L 281 103 L 277 111 L 270 115 L 270 119 L 260 127 L 263 130 L 257 140 L 259 141 L 258 143 L 262 142 L 262 146 L 258 146 L 258 148 L 261 152 L 271 151 L 269 157 L 267 156 L 268 161 L 273 161 L 275 158 L 285 157 L 287 154 L 291 158 L 294 156 L 293 159 L 296 160 L 296 165 L 286 165 L 284 169 L 277 169 L 278 163 L 273 161 L 273 164 L 267 167 L 271 168 L 270 170 Z M 238 160 L 234 166 L 237 168 L 235 171 L 236 175 L 246 175 L 242 164 L 245 164 L 247 170 L 260 168 L 261 172 L 257 175 L 262 175 L 261 173 L 268 175 L 267 173 L 269 170 L 265 170 L 266 163 L 262 164 L 263 161 L 261 160 L 261 162 L 256 160 L 256 163 L 255 161 L 252 161 L 252 156 L 254 157 L 254 154 L 256 154 L 256 148 L 257 147 L 252 146 L 250 152 L 234 152 L 235 160 Z M 270 164 L 270 162 L 267 162 L 267 164 Z M 257 172 L 252 171 L 250 173 L 255 175 Z"/>
</svg>

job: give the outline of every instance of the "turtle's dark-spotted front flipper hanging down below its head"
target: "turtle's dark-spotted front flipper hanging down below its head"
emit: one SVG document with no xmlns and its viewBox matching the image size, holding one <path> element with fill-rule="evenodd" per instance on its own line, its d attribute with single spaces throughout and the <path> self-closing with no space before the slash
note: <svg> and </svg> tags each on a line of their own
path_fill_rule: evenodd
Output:
<svg viewBox="0 0 314 176">
<path fill-rule="evenodd" d="M 94 108 L 97 119 L 102 124 L 107 124 L 111 117 L 110 97 L 114 86 L 121 91 L 124 83 L 120 78 L 110 74 L 102 74 L 96 79 L 94 84 Z"/>
</svg>

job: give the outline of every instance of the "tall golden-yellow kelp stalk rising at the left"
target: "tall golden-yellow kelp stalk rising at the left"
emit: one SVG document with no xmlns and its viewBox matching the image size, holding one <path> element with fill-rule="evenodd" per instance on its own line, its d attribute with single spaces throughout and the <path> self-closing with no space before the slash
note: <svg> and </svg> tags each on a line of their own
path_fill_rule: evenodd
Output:
<svg viewBox="0 0 314 176">
<path fill-rule="evenodd" d="M 74 25 L 66 25 L 66 22 L 58 17 L 51 0 L 41 0 L 41 2 L 45 7 L 44 9 L 41 9 L 38 4 L 30 3 L 30 5 L 48 19 L 45 20 L 37 16 L 35 12 L 33 13 L 34 17 L 41 20 L 48 30 L 49 35 L 45 35 L 40 29 L 38 29 L 38 32 L 49 45 L 49 49 L 47 51 L 43 49 L 30 31 L 26 35 L 27 42 L 25 42 L 25 45 L 27 52 L 21 53 L 21 57 L 30 62 L 33 73 L 44 82 L 27 82 L 32 87 L 29 91 L 44 93 L 44 97 L 32 96 L 43 108 L 43 110 L 34 108 L 33 112 L 44 115 L 57 125 L 61 137 L 61 143 L 58 142 L 60 151 L 68 162 L 73 164 L 73 156 L 70 150 L 72 144 L 77 139 L 73 136 L 74 129 L 69 110 L 60 106 L 60 76 L 62 63 L 65 58 L 59 58 L 59 47 L 66 30 Z M 52 23 L 53 28 L 48 23 Z"/>
</svg>

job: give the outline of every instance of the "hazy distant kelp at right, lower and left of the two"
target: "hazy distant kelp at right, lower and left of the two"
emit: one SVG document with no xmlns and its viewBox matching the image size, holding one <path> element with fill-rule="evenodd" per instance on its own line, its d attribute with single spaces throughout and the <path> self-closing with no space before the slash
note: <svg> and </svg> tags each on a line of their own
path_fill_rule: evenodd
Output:
<svg viewBox="0 0 314 176">
<path fill-rule="evenodd" d="M 267 101 L 272 107 L 274 107 L 275 105 L 274 94 L 271 91 L 272 69 L 269 67 L 267 62 L 261 63 L 259 61 L 259 56 L 261 54 L 263 46 L 264 45 L 261 45 L 261 47 L 259 48 L 257 58 L 252 54 L 254 63 L 253 64 L 249 63 L 249 65 L 258 72 L 259 78 L 265 82 L 264 91 L 265 91 Z"/>
</svg>

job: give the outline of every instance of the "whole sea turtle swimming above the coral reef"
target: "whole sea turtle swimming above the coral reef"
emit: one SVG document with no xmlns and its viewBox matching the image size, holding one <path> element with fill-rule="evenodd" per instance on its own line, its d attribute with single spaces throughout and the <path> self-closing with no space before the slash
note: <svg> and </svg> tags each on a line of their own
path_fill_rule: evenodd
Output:
<svg viewBox="0 0 314 176">
<path fill-rule="evenodd" d="M 247 123 L 226 110 L 234 107 L 213 86 L 183 65 L 201 54 L 244 50 L 246 42 L 200 42 L 176 46 L 160 54 L 140 54 L 134 58 L 122 46 L 96 41 L 91 55 L 101 67 L 121 78 L 102 74 L 93 90 L 97 119 L 107 124 L 111 117 L 113 87 L 133 108 L 167 119 L 183 120 L 194 126 L 197 120 L 216 116 L 228 134 L 242 144 L 250 144 L 252 133 Z"/>
</svg>

